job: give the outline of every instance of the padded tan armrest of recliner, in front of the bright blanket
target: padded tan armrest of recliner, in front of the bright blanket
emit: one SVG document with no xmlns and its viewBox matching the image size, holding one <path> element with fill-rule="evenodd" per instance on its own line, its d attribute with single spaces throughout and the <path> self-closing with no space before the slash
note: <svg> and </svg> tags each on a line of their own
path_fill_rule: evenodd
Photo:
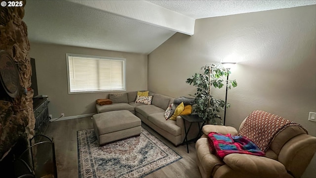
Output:
<svg viewBox="0 0 316 178">
<path fill-rule="evenodd" d="M 223 159 L 227 166 L 236 172 L 250 174 L 262 178 L 289 178 L 282 163 L 263 156 L 232 153 Z"/>
</svg>

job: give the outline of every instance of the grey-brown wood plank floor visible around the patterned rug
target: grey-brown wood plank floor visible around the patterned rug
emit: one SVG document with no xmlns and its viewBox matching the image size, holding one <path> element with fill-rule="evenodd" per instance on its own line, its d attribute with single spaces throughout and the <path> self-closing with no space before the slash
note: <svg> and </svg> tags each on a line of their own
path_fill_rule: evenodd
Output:
<svg viewBox="0 0 316 178">
<path fill-rule="evenodd" d="M 142 127 L 157 136 L 162 142 L 183 157 L 181 160 L 159 169 L 145 178 L 201 177 L 196 164 L 195 143 L 189 144 L 190 153 L 187 153 L 186 145 L 175 147 L 147 125 L 142 124 Z M 55 141 L 56 164 L 59 178 L 78 178 L 77 131 L 90 128 L 92 128 L 90 117 L 49 123 L 45 135 L 53 137 Z"/>
</svg>

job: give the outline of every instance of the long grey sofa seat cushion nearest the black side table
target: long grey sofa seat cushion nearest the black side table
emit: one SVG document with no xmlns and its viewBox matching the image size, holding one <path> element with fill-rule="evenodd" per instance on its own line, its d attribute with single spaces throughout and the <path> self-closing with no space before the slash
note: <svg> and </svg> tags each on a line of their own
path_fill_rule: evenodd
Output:
<svg viewBox="0 0 316 178">
<path fill-rule="evenodd" d="M 148 120 L 174 136 L 181 135 L 181 128 L 176 125 L 176 121 L 166 120 L 162 113 L 155 113 L 148 116 Z"/>
</svg>

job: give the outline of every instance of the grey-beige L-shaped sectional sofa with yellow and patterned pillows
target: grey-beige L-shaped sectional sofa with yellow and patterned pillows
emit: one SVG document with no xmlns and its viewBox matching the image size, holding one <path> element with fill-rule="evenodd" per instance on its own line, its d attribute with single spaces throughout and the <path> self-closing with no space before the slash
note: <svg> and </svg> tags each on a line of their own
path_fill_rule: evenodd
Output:
<svg viewBox="0 0 316 178">
<path fill-rule="evenodd" d="M 106 105 L 96 104 L 96 109 L 98 113 L 128 110 L 175 146 L 180 145 L 185 138 L 183 119 L 180 116 L 176 118 L 176 121 L 166 120 L 164 118 L 164 112 L 167 107 L 173 103 L 174 98 L 151 91 L 149 91 L 149 95 L 153 96 L 152 103 L 146 105 L 135 103 L 137 91 L 110 93 L 109 99 L 111 99 L 113 103 Z M 186 127 L 189 127 L 189 123 L 186 123 Z M 197 134 L 198 126 L 197 123 L 194 123 L 188 134 L 188 140 L 196 137 Z"/>
</svg>

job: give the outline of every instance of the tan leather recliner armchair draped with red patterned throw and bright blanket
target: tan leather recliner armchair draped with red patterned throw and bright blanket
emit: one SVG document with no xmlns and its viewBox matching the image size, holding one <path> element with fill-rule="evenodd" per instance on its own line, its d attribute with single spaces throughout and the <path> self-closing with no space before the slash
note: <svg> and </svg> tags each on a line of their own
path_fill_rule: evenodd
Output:
<svg viewBox="0 0 316 178">
<path fill-rule="evenodd" d="M 247 118 L 249 117 L 250 115 Z M 256 117 L 259 116 L 254 115 L 251 118 L 256 120 Z M 265 115 L 260 117 L 264 118 Z M 243 134 L 248 131 L 246 127 L 251 127 L 250 130 L 255 131 L 256 128 L 253 127 L 260 125 L 261 122 L 258 118 L 259 121 L 251 126 L 247 118 L 239 127 L 239 132 L 242 131 Z M 276 117 L 270 118 L 269 126 L 272 128 L 275 119 Z M 273 135 L 266 150 L 263 150 L 266 153 L 264 157 L 233 153 L 220 159 L 210 152 L 207 135 L 210 132 L 237 135 L 238 132 L 230 126 L 205 125 L 202 129 L 204 134 L 196 143 L 197 165 L 201 176 L 203 178 L 300 178 L 316 152 L 316 137 L 307 134 L 307 131 L 297 124 L 286 126 Z M 253 142 L 260 144 L 258 141 Z"/>
</svg>

